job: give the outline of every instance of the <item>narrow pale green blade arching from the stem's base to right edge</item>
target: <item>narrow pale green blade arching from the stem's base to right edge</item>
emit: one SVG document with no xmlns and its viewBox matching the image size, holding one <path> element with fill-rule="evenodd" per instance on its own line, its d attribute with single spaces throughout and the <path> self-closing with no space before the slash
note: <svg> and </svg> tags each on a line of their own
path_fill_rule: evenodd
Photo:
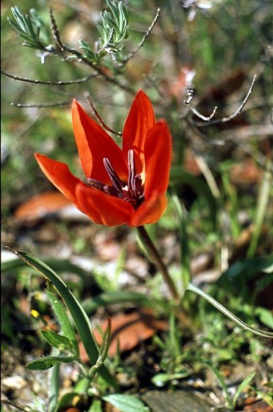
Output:
<svg viewBox="0 0 273 412">
<path fill-rule="evenodd" d="M 238 325 L 240 325 L 241 328 L 243 328 L 245 330 L 249 330 L 250 332 L 252 332 L 254 334 L 258 334 L 261 337 L 273 338 L 273 333 L 272 332 L 265 332 L 261 329 L 252 328 L 252 326 L 247 325 L 247 323 L 241 321 L 241 319 L 237 318 L 237 316 L 232 314 L 232 312 L 229 312 L 229 310 L 227 310 L 223 305 L 218 303 L 214 298 L 212 298 L 211 296 L 209 296 L 208 294 L 203 292 L 203 290 L 199 289 L 197 286 L 193 285 L 192 283 L 189 283 L 189 285 L 187 287 L 187 290 L 190 290 L 191 292 L 195 292 L 199 296 L 202 296 L 203 298 L 205 298 L 206 301 L 211 303 L 211 305 L 216 307 L 216 309 L 220 310 L 220 312 L 222 312 L 225 316 L 227 316 L 227 318 L 231 319 L 232 321 L 234 321 Z"/>
</svg>

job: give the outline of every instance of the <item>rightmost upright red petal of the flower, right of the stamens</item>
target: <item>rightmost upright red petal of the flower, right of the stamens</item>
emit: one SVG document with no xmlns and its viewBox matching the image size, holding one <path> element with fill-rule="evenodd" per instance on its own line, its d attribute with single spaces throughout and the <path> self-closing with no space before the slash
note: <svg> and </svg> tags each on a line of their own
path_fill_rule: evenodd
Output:
<svg viewBox="0 0 273 412">
<path fill-rule="evenodd" d="M 146 175 L 144 198 L 149 199 L 154 190 L 161 195 L 169 184 L 171 168 L 171 134 L 164 120 L 160 120 L 149 131 L 144 146 Z"/>
</svg>

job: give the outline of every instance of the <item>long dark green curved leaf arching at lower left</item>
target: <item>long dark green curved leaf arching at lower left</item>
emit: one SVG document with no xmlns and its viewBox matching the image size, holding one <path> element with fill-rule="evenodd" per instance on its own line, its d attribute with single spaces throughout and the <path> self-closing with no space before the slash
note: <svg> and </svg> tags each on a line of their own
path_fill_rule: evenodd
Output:
<svg viewBox="0 0 273 412">
<path fill-rule="evenodd" d="M 89 319 L 75 296 L 72 294 L 72 292 L 70 292 L 63 280 L 59 278 L 57 274 L 55 274 L 55 271 L 48 267 L 48 265 L 46 265 L 44 262 L 39 260 L 39 258 L 27 252 L 15 251 L 13 249 L 10 250 L 15 253 L 21 260 L 23 260 L 23 262 L 26 262 L 27 265 L 29 265 L 33 269 L 36 269 L 39 274 L 44 276 L 44 278 L 46 278 L 50 283 L 53 283 L 53 286 L 68 307 L 73 321 L 75 322 L 77 331 L 79 332 L 79 336 L 82 339 L 82 343 L 84 344 L 88 358 L 91 361 L 91 364 L 95 365 L 97 362 L 97 357 L 99 356 L 97 343 L 93 338 Z M 111 377 L 109 370 L 107 370 L 104 365 L 99 368 L 98 373 L 102 375 L 102 377 L 106 380 L 106 382 L 108 382 L 109 385 L 113 386 L 113 388 L 117 390 L 117 382 L 115 382 L 115 379 Z"/>
</svg>

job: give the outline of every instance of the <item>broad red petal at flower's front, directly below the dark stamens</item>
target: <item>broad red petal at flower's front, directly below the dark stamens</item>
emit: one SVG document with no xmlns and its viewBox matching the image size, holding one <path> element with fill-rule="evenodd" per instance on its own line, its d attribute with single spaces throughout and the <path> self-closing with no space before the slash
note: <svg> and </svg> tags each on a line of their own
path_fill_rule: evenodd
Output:
<svg viewBox="0 0 273 412">
<path fill-rule="evenodd" d="M 78 185 L 76 197 L 80 210 L 97 224 L 120 226 L 126 224 L 134 213 L 128 202 L 88 186 Z"/>
</svg>

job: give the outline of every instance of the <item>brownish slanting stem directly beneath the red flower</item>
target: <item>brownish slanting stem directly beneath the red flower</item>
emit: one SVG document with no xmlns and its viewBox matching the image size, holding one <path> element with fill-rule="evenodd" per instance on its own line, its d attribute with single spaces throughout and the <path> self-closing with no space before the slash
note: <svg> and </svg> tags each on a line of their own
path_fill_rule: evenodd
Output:
<svg viewBox="0 0 273 412">
<path fill-rule="evenodd" d="M 164 265 L 164 263 L 162 262 L 160 254 L 158 253 L 158 249 L 156 249 L 155 245 L 153 244 L 153 241 L 149 237 L 144 226 L 138 226 L 137 229 L 138 229 L 138 233 L 140 234 L 140 237 L 142 238 L 142 241 L 144 242 L 145 247 L 147 247 L 147 250 L 149 251 L 149 253 L 151 253 L 152 258 L 154 262 L 156 263 L 156 266 L 162 273 L 164 282 L 166 283 L 169 289 L 169 292 L 171 293 L 171 296 L 173 297 L 175 301 L 180 301 L 180 296 L 178 295 L 178 292 L 173 283 L 173 280 L 171 279 L 171 276 L 169 275 L 169 271 L 166 265 Z"/>
</svg>

